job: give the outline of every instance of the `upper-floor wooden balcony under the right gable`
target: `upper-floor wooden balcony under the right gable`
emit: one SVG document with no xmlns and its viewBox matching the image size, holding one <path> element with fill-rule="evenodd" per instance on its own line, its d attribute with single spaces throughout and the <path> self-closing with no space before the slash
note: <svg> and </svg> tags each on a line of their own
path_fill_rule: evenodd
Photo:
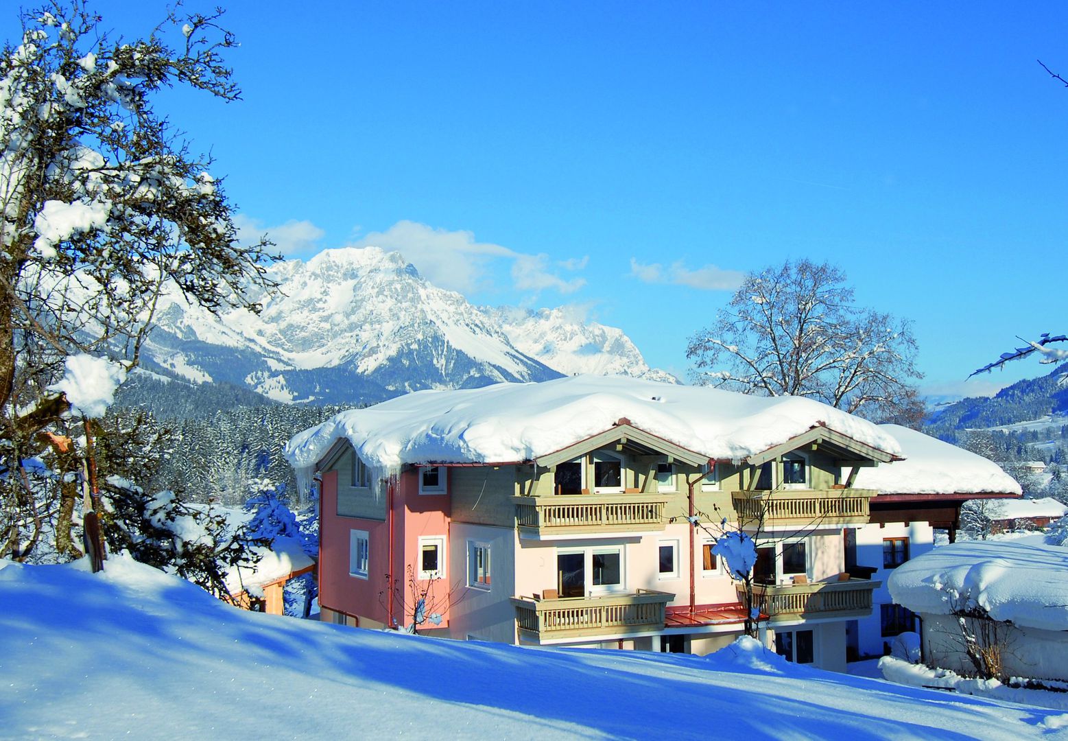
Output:
<svg viewBox="0 0 1068 741">
<path fill-rule="evenodd" d="M 875 489 L 733 491 L 731 501 L 747 530 L 820 527 L 867 523 L 868 501 L 877 493 Z"/>
</svg>

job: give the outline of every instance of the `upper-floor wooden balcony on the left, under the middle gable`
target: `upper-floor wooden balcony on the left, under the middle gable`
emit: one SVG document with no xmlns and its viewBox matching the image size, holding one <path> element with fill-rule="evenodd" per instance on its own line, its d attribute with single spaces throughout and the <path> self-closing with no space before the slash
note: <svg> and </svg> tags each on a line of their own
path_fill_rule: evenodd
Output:
<svg viewBox="0 0 1068 741">
<path fill-rule="evenodd" d="M 520 533 L 538 535 L 661 531 L 666 501 L 654 494 L 516 496 L 516 523 Z"/>
</svg>

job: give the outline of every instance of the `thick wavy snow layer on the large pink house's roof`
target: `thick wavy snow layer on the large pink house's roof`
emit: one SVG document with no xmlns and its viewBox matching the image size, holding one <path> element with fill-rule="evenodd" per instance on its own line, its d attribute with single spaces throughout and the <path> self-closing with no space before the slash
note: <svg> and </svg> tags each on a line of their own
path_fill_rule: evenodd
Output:
<svg viewBox="0 0 1068 741">
<path fill-rule="evenodd" d="M 342 412 L 286 446 L 294 467 L 318 461 L 347 438 L 368 464 L 531 460 L 602 432 L 621 417 L 718 460 L 739 459 L 816 425 L 898 454 L 876 425 L 812 399 L 745 396 L 623 376 L 572 376 L 543 383 L 499 383 L 420 391 Z"/>
</svg>

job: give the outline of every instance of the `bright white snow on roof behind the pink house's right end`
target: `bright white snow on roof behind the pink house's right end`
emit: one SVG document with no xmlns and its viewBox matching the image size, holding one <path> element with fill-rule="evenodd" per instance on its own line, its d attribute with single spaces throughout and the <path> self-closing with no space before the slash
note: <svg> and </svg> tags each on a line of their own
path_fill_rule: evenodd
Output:
<svg viewBox="0 0 1068 741">
<path fill-rule="evenodd" d="M 857 473 L 854 486 L 884 494 L 1019 494 L 1016 479 L 991 460 L 900 425 L 879 425 L 900 445 L 905 460 Z"/>
</svg>

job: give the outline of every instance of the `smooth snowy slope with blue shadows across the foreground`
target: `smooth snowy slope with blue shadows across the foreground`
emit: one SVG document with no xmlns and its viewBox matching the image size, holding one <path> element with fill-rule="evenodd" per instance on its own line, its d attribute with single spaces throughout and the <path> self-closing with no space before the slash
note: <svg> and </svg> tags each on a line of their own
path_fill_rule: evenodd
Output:
<svg viewBox="0 0 1068 741">
<path fill-rule="evenodd" d="M 786 664 L 534 650 L 229 608 L 122 557 L 0 561 L 0 738 L 1068 738 L 1068 713 Z"/>
</svg>

